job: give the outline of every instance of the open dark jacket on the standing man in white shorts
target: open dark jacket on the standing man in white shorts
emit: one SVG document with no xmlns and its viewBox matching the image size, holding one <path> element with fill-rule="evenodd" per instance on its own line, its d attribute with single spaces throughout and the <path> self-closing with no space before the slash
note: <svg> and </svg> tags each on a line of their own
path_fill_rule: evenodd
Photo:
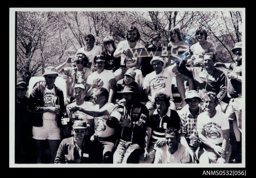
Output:
<svg viewBox="0 0 256 178">
<path fill-rule="evenodd" d="M 64 97 L 63 92 L 54 85 L 56 96 L 59 99 L 60 112 L 56 114 L 57 126 L 61 127 L 61 117 L 64 115 Z M 46 83 L 42 83 L 33 88 L 30 96 L 29 96 L 29 104 L 28 110 L 30 112 L 30 119 L 32 121 L 32 125 L 36 127 L 42 126 L 42 114 L 44 111 L 44 93 L 46 89 Z"/>
</svg>

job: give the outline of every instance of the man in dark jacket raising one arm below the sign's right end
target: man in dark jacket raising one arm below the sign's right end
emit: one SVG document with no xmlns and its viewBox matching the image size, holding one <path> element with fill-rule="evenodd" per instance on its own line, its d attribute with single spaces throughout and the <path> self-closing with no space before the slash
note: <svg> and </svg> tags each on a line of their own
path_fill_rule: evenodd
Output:
<svg viewBox="0 0 256 178">
<path fill-rule="evenodd" d="M 205 93 L 214 92 L 218 97 L 218 105 L 217 109 L 221 110 L 221 105 L 224 105 L 222 99 L 227 94 L 227 79 L 225 74 L 216 69 L 214 67 L 214 63 L 216 62 L 216 55 L 214 53 L 205 53 L 203 66 L 187 68 L 186 62 L 190 57 L 185 57 L 178 66 L 178 71 L 189 77 L 194 79 L 196 91 L 199 94 L 200 98 L 203 98 Z"/>
</svg>

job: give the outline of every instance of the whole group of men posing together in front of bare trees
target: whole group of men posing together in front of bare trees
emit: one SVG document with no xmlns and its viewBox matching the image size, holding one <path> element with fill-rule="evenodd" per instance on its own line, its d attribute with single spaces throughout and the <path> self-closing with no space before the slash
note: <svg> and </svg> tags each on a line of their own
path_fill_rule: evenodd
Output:
<svg viewBox="0 0 256 178">
<path fill-rule="evenodd" d="M 105 37 L 102 53 L 94 36 L 87 35 L 75 57 L 45 69 L 46 82 L 36 85 L 26 100 L 36 163 L 43 163 L 46 140 L 50 163 L 229 163 L 230 125 L 241 148 L 242 43 L 232 49 L 235 63 L 216 63 L 206 31 L 199 28 L 196 37 L 195 55 L 168 62 L 161 56 L 128 57 L 128 49 L 143 48 L 136 27 L 127 30 L 117 48 L 112 37 Z M 160 47 L 158 33 L 150 38 L 147 47 Z M 193 67 L 186 64 L 191 61 Z M 217 66 L 232 72 L 226 76 Z M 172 96 L 176 74 L 194 82 L 180 110 Z M 54 84 L 59 75 L 67 78 L 66 101 Z M 17 83 L 17 94 L 24 87 Z M 23 98 L 17 95 L 18 103 Z M 25 112 L 22 108 L 15 122 Z"/>
</svg>

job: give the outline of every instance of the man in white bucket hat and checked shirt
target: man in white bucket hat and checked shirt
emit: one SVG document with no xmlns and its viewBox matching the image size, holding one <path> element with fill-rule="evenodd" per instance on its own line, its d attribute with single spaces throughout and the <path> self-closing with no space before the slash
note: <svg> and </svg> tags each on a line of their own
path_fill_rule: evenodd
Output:
<svg viewBox="0 0 256 178">
<path fill-rule="evenodd" d="M 194 159 L 198 161 L 196 152 L 200 146 L 197 132 L 197 117 L 202 113 L 201 107 L 199 107 L 202 99 L 199 97 L 197 91 L 190 90 L 186 93 L 184 100 L 188 105 L 178 112 L 181 119 L 180 142 L 188 149 L 192 159 L 191 161 L 194 163 Z"/>
</svg>

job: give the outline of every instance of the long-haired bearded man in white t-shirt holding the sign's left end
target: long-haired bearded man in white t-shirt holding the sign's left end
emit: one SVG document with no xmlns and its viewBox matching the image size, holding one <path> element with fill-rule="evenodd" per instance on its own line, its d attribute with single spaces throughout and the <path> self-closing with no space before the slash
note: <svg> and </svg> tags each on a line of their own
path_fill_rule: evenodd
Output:
<svg viewBox="0 0 256 178">
<path fill-rule="evenodd" d="M 126 63 L 126 66 L 115 71 L 114 76 L 116 82 L 124 78 L 124 74 L 127 69 L 133 69 L 136 73 L 135 81 L 139 84 L 140 90 L 142 87 L 142 73 L 141 73 L 141 57 L 128 58 L 128 50 L 131 48 L 144 48 L 142 44 L 139 43 L 140 33 L 136 27 L 132 26 L 127 30 L 126 40 L 120 41 L 117 49 L 114 53 L 114 57 L 121 56 L 121 65 Z"/>
</svg>

